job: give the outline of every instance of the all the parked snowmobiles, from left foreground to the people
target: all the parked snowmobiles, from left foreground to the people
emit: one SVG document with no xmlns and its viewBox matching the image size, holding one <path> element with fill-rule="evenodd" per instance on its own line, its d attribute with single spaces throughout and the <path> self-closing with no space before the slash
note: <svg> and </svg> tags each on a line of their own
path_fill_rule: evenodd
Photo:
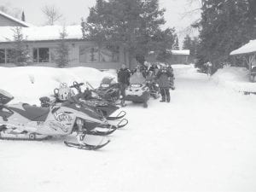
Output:
<svg viewBox="0 0 256 192">
<path fill-rule="evenodd" d="M 159 97 L 157 84 L 138 74 L 131 77 L 125 90 L 126 101 L 141 102 L 148 107 L 149 96 Z M 142 79 L 141 79 L 142 78 Z M 82 90 L 83 86 L 86 88 Z M 41 106 L 27 103 L 8 104 L 14 96 L 0 90 L 0 139 L 44 140 L 50 137 L 74 136 L 77 143 L 65 141 L 68 147 L 98 149 L 107 145 L 106 136 L 128 124 L 125 111 L 119 110 L 119 84 L 113 78 L 102 79 L 99 88 L 88 82 L 62 83 L 54 90 L 54 97 L 41 97 Z M 101 137 L 99 143 L 90 144 L 85 136 Z"/>
</svg>

